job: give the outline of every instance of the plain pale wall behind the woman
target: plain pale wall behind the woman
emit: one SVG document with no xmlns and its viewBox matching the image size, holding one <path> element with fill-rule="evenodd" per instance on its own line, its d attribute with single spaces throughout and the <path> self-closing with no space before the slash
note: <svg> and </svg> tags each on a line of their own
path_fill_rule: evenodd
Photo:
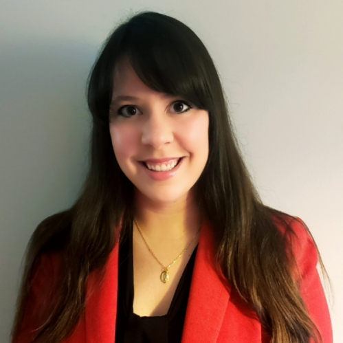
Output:
<svg viewBox="0 0 343 343">
<path fill-rule="evenodd" d="M 30 235 L 71 206 L 85 177 L 89 69 L 137 10 L 175 16 L 208 47 L 261 197 L 316 239 L 343 342 L 342 0 L 1 0 L 0 342 Z"/>
</svg>

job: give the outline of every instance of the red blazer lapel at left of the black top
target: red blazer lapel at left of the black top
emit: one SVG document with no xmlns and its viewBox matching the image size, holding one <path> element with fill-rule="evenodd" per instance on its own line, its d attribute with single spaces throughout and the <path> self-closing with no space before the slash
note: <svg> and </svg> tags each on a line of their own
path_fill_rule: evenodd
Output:
<svg viewBox="0 0 343 343">
<path fill-rule="evenodd" d="M 116 244 L 104 271 L 89 276 L 85 310 L 87 343 L 113 343 L 115 340 L 118 252 L 119 244 Z"/>
</svg>

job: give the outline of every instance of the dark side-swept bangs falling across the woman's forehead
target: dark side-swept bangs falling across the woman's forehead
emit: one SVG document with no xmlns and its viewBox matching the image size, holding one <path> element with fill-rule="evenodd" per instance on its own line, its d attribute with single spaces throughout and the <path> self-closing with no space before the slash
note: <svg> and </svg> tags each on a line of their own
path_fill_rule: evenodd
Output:
<svg viewBox="0 0 343 343">
<path fill-rule="evenodd" d="M 208 110 L 206 68 L 198 56 L 202 45 L 199 38 L 186 25 L 136 21 L 126 28 L 122 52 L 137 76 L 155 91 L 180 96 L 199 109 Z"/>
</svg>

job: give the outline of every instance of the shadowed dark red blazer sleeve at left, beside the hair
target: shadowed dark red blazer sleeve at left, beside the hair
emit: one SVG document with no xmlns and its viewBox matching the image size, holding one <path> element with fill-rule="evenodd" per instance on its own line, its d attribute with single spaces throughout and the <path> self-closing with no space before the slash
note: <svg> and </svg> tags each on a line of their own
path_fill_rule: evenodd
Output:
<svg viewBox="0 0 343 343">
<path fill-rule="evenodd" d="M 58 258 L 43 254 L 38 257 L 25 301 L 25 311 L 19 335 L 13 343 L 30 343 L 54 307 L 54 287 Z"/>
</svg>

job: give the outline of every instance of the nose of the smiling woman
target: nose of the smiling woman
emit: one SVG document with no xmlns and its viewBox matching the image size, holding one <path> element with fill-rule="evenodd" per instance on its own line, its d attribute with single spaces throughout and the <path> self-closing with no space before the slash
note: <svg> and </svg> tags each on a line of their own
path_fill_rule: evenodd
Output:
<svg viewBox="0 0 343 343">
<path fill-rule="evenodd" d="M 173 128 L 164 113 L 151 113 L 142 126 L 142 143 L 155 149 L 173 142 Z"/>
</svg>

